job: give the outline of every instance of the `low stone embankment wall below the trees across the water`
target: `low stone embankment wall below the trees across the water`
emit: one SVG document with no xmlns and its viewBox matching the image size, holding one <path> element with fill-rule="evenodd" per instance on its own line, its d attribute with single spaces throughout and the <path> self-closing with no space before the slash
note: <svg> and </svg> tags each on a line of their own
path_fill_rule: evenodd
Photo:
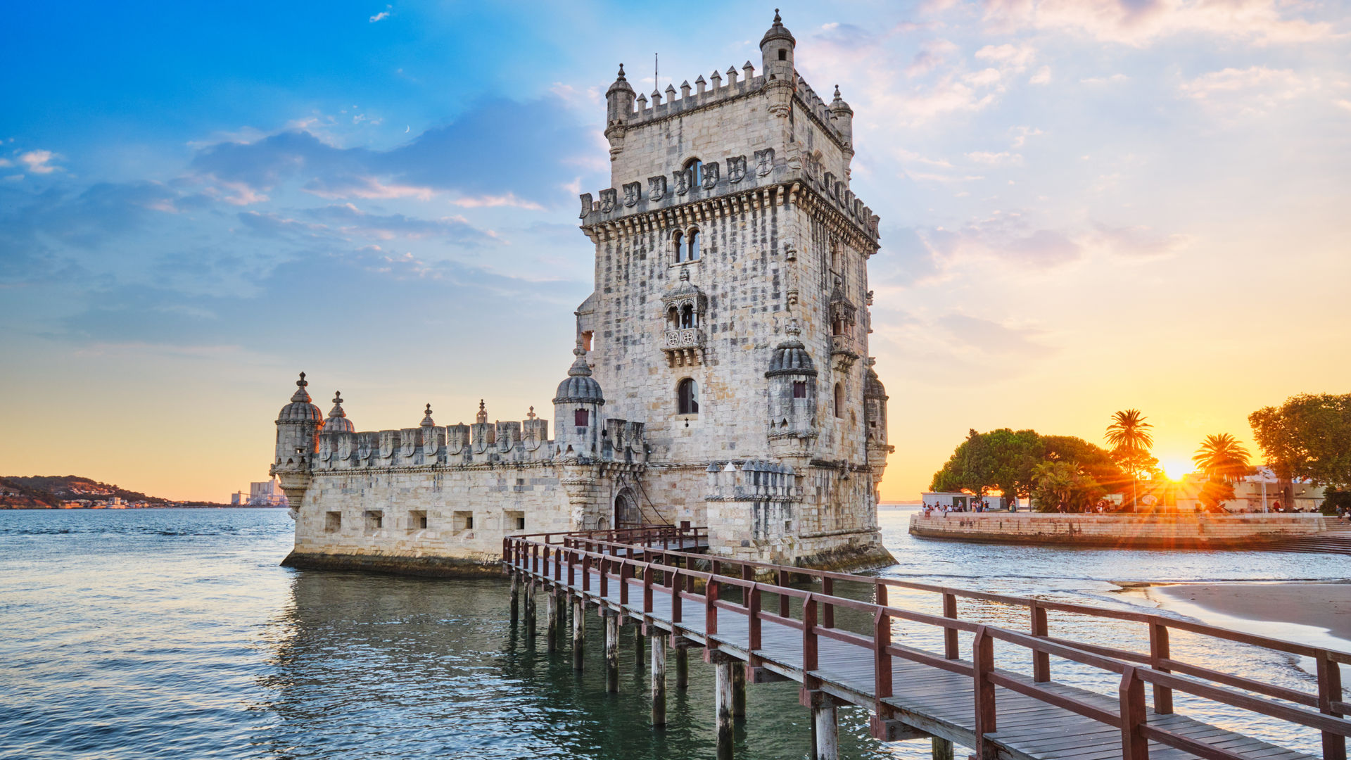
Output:
<svg viewBox="0 0 1351 760">
<path fill-rule="evenodd" d="M 911 534 L 1001 544 L 1121 549 L 1242 549 L 1316 536 L 1335 518 L 1317 514 L 1098 515 L 1046 513 L 917 513 Z"/>
</svg>

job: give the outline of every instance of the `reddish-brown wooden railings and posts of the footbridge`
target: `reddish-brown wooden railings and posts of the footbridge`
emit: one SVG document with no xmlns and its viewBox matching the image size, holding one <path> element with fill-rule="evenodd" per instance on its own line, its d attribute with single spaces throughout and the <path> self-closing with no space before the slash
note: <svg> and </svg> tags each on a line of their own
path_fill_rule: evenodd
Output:
<svg viewBox="0 0 1351 760">
<path fill-rule="evenodd" d="M 858 646 L 862 650 L 861 653 L 867 653 L 873 660 L 873 730 L 877 736 L 885 734 L 885 723 L 893 714 L 893 709 L 885 700 L 893 696 L 892 657 L 900 657 L 973 679 L 977 699 L 977 742 L 979 745 L 977 749 L 981 751 L 977 755 L 978 757 L 993 757 L 993 748 L 986 746 L 984 736 L 994 732 L 997 726 L 997 715 L 994 713 L 994 687 L 997 686 L 1121 729 L 1123 757 L 1129 760 L 1146 760 L 1148 756 L 1147 741 L 1150 740 L 1202 757 L 1225 760 L 1239 760 L 1243 757 L 1240 753 L 1205 745 L 1181 733 L 1147 723 L 1144 686 L 1148 684 L 1154 691 L 1154 711 L 1156 714 L 1171 713 L 1173 691 L 1182 691 L 1202 699 L 1319 730 L 1323 736 L 1324 759 L 1346 760 L 1346 737 L 1351 736 L 1351 721 L 1346 719 L 1344 715 L 1351 713 L 1351 703 L 1343 698 L 1340 664 L 1351 663 L 1351 653 L 1347 652 L 1315 648 L 1151 613 L 1108 610 L 1085 604 L 985 594 L 894 579 L 789 568 L 766 563 L 667 550 L 665 548 L 658 550 L 655 542 L 659 537 L 657 533 L 643 534 L 640 529 L 635 530 L 639 537 L 647 541 L 646 544 L 609 541 L 608 536 L 546 536 L 546 538 L 557 537 L 557 542 L 540 541 L 530 536 L 508 537 L 504 557 L 509 565 L 524 569 L 535 577 L 546 581 L 551 580 L 558 584 L 566 583 L 573 588 L 580 586 L 582 594 L 594 594 L 600 598 L 609 596 L 611 583 L 615 581 L 619 584 L 620 607 L 638 606 L 632 600 L 632 594 L 636 590 L 640 594 L 640 610 L 644 622 L 651 621 L 654 588 L 665 587 L 673 599 L 671 625 L 677 632 L 689 630 L 689 627 L 686 621 L 681 619 L 684 604 L 674 603 L 674 599 L 693 602 L 696 606 L 703 607 L 703 633 L 708 637 L 719 636 L 717 610 L 728 610 L 734 614 L 746 615 L 746 652 L 750 665 L 761 665 L 763 663 L 759 652 L 763 649 L 761 634 L 765 622 L 800 630 L 802 633 L 802 679 L 804 687 L 808 690 L 820 686 L 819 676 L 813 675 L 813 671 L 819 669 L 817 652 L 820 638 L 824 637 Z M 676 536 L 673 533 L 667 540 Z M 690 536 L 694 536 L 694 533 L 692 531 Z M 638 559 L 639 552 L 634 550 L 636 548 L 643 549 L 642 559 Z M 696 564 L 707 564 L 709 569 L 696 569 Z M 598 588 L 593 588 L 593 575 Z M 808 591 L 790 586 L 792 576 L 794 575 L 819 580 L 821 591 Z M 774 580 L 771 583 L 759 581 L 757 580 L 758 576 L 769 576 Z M 835 581 L 869 584 L 873 587 L 874 600 L 863 602 L 836 596 L 834 595 Z M 703 594 L 697 591 L 700 584 L 704 588 Z M 934 615 L 890 606 L 888 603 L 888 590 L 892 587 L 940 594 L 943 614 Z M 723 588 L 740 590 L 740 599 L 736 602 L 723 599 Z M 765 594 L 775 596 L 777 609 L 765 609 Z M 800 600 L 800 617 L 793 617 L 790 599 Z M 1024 633 L 962 619 L 958 615 L 958 599 L 978 599 L 1024 606 L 1029 610 L 1029 630 Z M 834 613 L 836 609 L 862 613 L 871 619 L 871 630 L 858 633 L 835 626 Z M 1144 623 L 1150 626 L 1150 652 L 1132 652 L 1113 646 L 1054 638 L 1047 630 L 1047 610 Z M 939 657 L 920 649 L 894 645 L 892 642 L 893 621 L 907 621 L 940 629 L 944 641 L 943 656 Z M 1312 657 L 1317 667 L 1319 692 L 1308 694 L 1179 661 L 1169 653 L 1167 632 L 1170 629 Z M 970 661 L 961 660 L 958 646 L 959 633 L 974 634 Z M 993 649 L 996 640 L 1024 648 L 1031 653 L 1031 680 L 1019 678 L 1012 671 L 996 669 Z M 1052 656 L 1119 673 L 1121 676 L 1119 711 L 1102 710 L 1096 705 L 1066 696 L 1062 692 L 1042 686 L 1051 680 L 1050 659 Z M 1294 705 L 1288 705 L 1286 702 Z M 1313 707 L 1313 710 L 1306 707 Z"/>
</svg>

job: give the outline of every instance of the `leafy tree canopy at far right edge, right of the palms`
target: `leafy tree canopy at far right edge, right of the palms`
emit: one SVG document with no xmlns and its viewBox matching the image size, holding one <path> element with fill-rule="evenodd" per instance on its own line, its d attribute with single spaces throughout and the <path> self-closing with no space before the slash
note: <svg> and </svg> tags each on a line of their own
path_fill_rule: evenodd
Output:
<svg viewBox="0 0 1351 760">
<path fill-rule="evenodd" d="M 1351 394 L 1300 394 L 1248 415 L 1252 435 L 1278 477 L 1351 485 Z"/>
</svg>

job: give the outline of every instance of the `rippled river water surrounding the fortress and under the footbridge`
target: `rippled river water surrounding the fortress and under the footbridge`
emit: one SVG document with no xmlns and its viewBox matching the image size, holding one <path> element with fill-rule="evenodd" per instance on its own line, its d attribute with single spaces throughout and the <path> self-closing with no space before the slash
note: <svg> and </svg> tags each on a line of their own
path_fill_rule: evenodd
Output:
<svg viewBox="0 0 1351 760">
<path fill-rule="evenodd" d="M 1344 580 L 1344 557 L 1274 552 L 1136 552 L 954 544 L 907 534 L 881 510 L 898 564 L 885 575 L 1046 599 L 1152 609 L 1113 581 Z M 586 757 L 713 756 L 712 668 L 690 657 L 670 688 L 669 728 L 647 722 L 647 676 L 624 629 L 624 673 L 605 694 L 600 648 L 569 657 L 527 645 L 497 579 L 435 580 L 293 571 L 285 510 L 0 511 L 0 757 Z M 848 590 L 844 590 L 848 592 Z M 858 590 L 862 594 L 862 590 Z M 936 611 L 924 594 L 893 603 Z M 962 615 L 1025 627 L 1020 610 Z M 589 617 L 588 637 L 601 640 Z M 1051 615 L 1054 634 L 1144 646 L 1131 625 Z M 1300 629 L 1290 627 L 1292 636 Z M 936 646 L 897 626 L 897 641 Z M 963 642 L 963 650 L 966 642 Z M 1016 652 L 998 652 L 1019 667 Z M 1306 664 L 1185 636 L 1174 656 L 1312 690 Z M 1055 678 L 1115 694 L 1062 663 Z M 1178 711 L 1316 751 L 1317 737 L 1179 699 Z M 753 686 L 738 756 L 809 753 L 797 686 Z M 842 710 L 843 757 L 924 757 L 881 745 Z"/>
</svg>

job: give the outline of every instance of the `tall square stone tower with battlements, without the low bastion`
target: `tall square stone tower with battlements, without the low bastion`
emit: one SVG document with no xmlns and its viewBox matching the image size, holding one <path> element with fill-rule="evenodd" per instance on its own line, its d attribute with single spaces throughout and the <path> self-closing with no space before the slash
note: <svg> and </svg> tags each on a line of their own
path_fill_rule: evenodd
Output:
<svg viewBox="0 0 1351 760">
<path fill-rule="evenodd" d="M 581 196 L 596 291 L 577 316 L 605 412 L 643 421 L 663 462 L 650 491 L 723 527 L 715 550 L 820 564 L 880 550 L 878 219 L 850 189 L 854 112 L 808 87 L 794 47 L 775 12 L 758 74 L 747 61 L 648 99 L 620 66 L 611 187 Z"/>
</svg>

